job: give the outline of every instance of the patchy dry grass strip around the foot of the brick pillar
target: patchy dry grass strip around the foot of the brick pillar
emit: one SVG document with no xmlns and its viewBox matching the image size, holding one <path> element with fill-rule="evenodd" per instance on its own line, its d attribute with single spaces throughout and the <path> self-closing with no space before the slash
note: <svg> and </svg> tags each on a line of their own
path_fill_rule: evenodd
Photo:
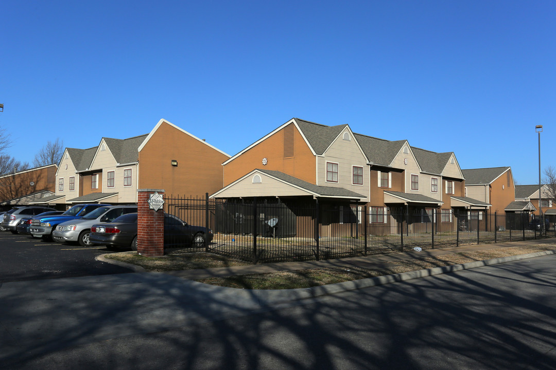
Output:
<svg viewBox="0 0 556 370">
<path fill-rule="evenodd" d="M 141 266 L 147 271 L 163 272 L 176 270 L 195 270 L 196 268 L 229 267 L 252 265 L 250 262 L 230 259 L 209 253 L 188 253 L 163 257 L 145 257 L 137 252 L 120 252 L 105 256 L 108 259 Z"/>
</svg>

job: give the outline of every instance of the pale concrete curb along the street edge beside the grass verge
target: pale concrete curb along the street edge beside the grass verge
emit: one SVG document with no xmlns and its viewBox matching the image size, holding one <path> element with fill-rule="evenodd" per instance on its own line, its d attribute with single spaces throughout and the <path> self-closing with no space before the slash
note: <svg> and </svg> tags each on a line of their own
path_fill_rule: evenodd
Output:
<svg viewBox="0 0 556 370">
<path fill-rule="evenodd" d="M 341 292 L 348 292 L 358 289 L 363 289 L 371 286 L 384 285 L 400 281 L 413 280 L 420 277 L 440 275 L 442 273 L 455 272 L 461 270 L 470 270 L 471 268 L 492 266 L 498 263 L 512 262 L 524 259 L 531 259 L 534 257 L 541 257 L 556 254 L 556 250 L 534 252 L 525 255 L 515 255 L 508 257 L 500 257 L 497 259 L 474 261 L 461 263 L 459 265 L 449 265 L 442 267 L 426 268 L 425 270 L 410 271 L 396 273 L 393 275 L 384 275 L 377 277 L 370 277 L 361 280 L 345 281 L 330 285 L 322 285 L 310 288 L 287 289 L 287 290 L 252 290 L 252 295 L 259 298 L 261 306 L 275 306 L 280 303 L 287 303 L 291 301 L 307 300 L 311 298 L 333 295 Z M 230 288 L 236 289 L 236 288 Z"/>
</svg>

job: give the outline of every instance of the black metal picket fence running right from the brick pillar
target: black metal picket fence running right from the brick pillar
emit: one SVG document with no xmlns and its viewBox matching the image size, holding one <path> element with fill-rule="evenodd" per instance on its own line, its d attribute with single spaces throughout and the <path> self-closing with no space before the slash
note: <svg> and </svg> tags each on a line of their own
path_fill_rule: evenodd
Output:
<svg viewBox="0 0 556 370">
<path fill-rule="evenodd" d="M 526 213 L 423 210 L 419 214 L 396 214 L 385 208 L 357 205 L 292 206 L 279 201 L 269 204 L 179 197 L 166 197 L 165 201 L 167 213 L 214 233 L 214 239 L 204 246 L 182 245 L 177 249 L 176 243 L 165 238 L 166 253 L 207 251 L 254 263 L 556 237 L 554 224 L 535 227 L 543 223 L 535 224 L 534 217 Z"/>
</svg>

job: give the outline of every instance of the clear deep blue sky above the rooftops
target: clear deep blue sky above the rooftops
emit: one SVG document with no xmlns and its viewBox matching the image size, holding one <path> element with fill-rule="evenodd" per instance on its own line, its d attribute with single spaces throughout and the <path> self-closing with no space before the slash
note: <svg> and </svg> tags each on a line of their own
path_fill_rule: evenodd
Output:
<svg viewBox="0 0 556 370">
<path fill-rule="evenodd" d="M 32 163 L 164 118 L 234 155 L 292 117 L 462 169 L 556 166 L 556 2 L 0 3 L 0 126 Z"/>
</svg>

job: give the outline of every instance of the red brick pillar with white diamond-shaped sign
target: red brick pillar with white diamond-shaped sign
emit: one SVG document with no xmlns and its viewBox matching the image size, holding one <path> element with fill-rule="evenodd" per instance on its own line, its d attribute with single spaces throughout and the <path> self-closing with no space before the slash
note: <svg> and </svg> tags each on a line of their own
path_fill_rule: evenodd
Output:
<svg viewBox="0 0 556 370">
<path fill-rule="evenodd" d="M 157 192 L 164 197 L 164 190 L 137 190 L 137 253 L 147 257 L 164 255 L 164 208 L 150 208 L 148 200 Z"/>
</svg>

